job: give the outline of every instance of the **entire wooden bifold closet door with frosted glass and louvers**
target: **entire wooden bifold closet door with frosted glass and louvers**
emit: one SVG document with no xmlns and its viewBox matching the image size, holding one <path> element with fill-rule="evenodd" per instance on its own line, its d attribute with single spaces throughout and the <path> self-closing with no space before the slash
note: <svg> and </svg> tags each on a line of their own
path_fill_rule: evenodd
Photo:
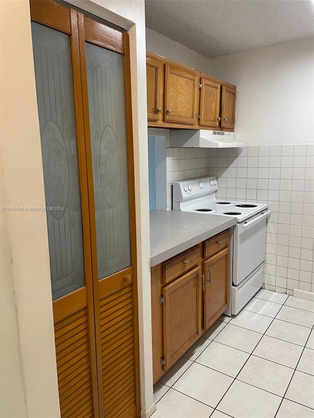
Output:
<svg viewBox="0 0 314 418">
<path fill-rule="evenodd" d="M 61 416 L 140 415 L 129 38 L 30 1 Z"/>
</svg>

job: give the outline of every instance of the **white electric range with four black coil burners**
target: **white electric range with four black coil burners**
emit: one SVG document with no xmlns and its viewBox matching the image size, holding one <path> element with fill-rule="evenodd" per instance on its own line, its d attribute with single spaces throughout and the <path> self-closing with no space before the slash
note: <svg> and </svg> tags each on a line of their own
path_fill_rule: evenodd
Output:
<svg viewBox="0 0 314 418">
<path fill-rule="evenodd" d="M 222 215 L 237 219 L 230 257 L 231 306 L 236 315 L 263 285 L 266 253 L 267 204 L 217 199 L 216 177 L 193 178 L 173 183 L 173 210 Z"/>
</svg>

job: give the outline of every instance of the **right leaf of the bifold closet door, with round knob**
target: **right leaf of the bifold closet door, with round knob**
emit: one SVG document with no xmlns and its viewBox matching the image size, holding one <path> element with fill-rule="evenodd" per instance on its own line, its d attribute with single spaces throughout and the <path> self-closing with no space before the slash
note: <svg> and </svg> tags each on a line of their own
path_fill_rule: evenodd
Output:
<svg viewBox="0 0 314 418">
<path fill-rule="evenodd" d="M 128 35 L 78 15 L 101 412 L 139 417 Z M 82 32 L 80 32 L 82 33 Z M 87 92 L 87 94 L 85 94 Z"/>
</svg>

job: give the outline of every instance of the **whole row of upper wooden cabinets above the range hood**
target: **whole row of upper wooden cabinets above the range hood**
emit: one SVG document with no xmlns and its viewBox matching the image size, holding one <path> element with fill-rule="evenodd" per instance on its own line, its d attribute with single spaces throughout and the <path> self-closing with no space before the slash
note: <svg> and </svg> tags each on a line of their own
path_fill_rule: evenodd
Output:
<svg viewBox="0 0 314 418">
<path fill-rule="evenodd" d="M 149 127 L 235 129 L 233 84 L 147 53 Z"/>
</svg>

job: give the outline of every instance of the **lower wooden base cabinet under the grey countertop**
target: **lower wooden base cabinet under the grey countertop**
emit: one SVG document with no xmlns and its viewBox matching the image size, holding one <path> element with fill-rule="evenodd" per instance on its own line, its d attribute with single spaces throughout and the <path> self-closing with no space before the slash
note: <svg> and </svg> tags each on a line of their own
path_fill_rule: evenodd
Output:
<svg viewBox="0 0 314 418">
<path fill-rule="evenodd" d="M 228 308 L 229 242 L 227 230 L 151 269 L 154 383 Z"/>
</svg>

